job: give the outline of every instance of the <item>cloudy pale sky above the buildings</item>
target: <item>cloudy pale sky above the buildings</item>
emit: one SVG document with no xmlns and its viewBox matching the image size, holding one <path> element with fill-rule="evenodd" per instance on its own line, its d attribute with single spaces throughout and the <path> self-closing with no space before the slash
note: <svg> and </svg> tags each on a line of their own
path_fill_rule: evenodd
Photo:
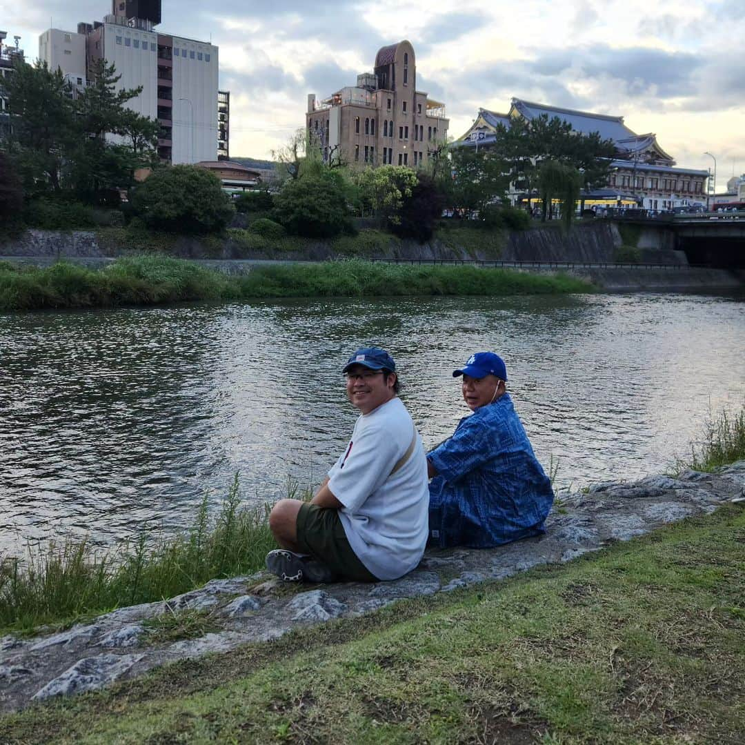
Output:
<svg viewBox="0 0 745 745">
<path fill-rule="evenodd" d="M 53 25 L 75 31 L 109 0 L 0 0 L 0 28 L 29 57 Z M 329 95 L 409 39 L 418 88 L 445 101 L 460 136 L 510 98 L 623 115 L 678 165 L 717 183 L 745 171 L 745 0 L 164 0 L 158 30 L 220 47 L 234 156 L 269 157 Z"/>
</svg>

